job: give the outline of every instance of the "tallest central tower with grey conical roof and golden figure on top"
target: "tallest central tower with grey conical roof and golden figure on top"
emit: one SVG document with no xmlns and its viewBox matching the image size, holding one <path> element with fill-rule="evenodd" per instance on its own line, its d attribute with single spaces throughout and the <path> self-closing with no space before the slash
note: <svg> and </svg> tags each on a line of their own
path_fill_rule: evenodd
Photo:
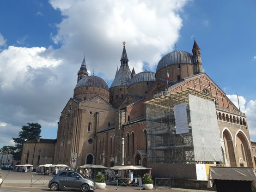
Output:
<svg viewBox="0 0 256 192">
<path fill-rule="evenodd" d="M 113 83 L 110 86 L 110 104 L 116 108 L 122 102 L 123 98 L 128 93 L 128 86 L 131 81 L 131 71 L 128 66 L 128 56 L 126 54 L 125 44 L 123 43 L 121 66 L 116 71 L 116 76 Z"/>
</svg>

